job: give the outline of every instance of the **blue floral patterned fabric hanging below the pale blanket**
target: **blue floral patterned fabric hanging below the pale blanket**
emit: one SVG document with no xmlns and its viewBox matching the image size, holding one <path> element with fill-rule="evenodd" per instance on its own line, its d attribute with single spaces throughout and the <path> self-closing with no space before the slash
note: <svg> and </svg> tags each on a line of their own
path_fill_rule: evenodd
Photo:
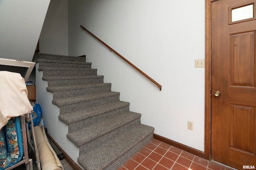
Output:
<svg viewBox="0 0 256 170">
<path fill-rule="evenodd" d="M 24 153 L 19 117 L 12 117 L 0 130 L 0 169 L 18 163 Z"/>
</svg>

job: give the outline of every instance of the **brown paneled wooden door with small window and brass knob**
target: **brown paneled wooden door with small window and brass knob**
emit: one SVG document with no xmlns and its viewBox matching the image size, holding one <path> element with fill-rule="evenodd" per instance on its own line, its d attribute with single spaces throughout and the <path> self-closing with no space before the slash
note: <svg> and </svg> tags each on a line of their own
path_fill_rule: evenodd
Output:
<svg viewBox="0 0 256 170">
<path fill-rule="evenodd" d="M 251 4 L 252 17 L 235 21 Z M 256 168 L 255 9 L 256 0 L 212 2 L 211 156 L 239 170 Z"/>
</svg>

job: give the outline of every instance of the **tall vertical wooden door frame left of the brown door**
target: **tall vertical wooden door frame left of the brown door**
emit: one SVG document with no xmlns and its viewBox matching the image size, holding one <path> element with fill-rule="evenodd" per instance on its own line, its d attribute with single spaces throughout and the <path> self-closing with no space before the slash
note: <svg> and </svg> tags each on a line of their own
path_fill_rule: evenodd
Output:
<svg viewBox="0 0 256 170">
<path fill-rule="evenodd" d="M 212 88 L 212 2 L 205 0 L 205 126 L 204 157 L 211 160 L 211 88 Z"/>
</svg>

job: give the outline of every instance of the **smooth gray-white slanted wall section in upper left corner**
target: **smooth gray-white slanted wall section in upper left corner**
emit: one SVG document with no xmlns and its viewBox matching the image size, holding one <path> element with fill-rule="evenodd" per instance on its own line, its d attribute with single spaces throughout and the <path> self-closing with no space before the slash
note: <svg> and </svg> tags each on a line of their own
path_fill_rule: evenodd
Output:
<svg viewBox="0 0 256 170">
<path fill-rule="evenodd" d="M 0 57 L 32 61 L 50 0 L 0 0 Z"/>
</svg>

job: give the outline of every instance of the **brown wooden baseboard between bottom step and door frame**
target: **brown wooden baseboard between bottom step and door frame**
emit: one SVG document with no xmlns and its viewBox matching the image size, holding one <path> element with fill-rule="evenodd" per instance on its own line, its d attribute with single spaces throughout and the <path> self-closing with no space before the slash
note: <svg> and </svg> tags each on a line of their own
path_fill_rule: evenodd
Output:
<svg viewBox="0 0 256 170">
<path fill-rule="evenodd" d="M 162 136 L 156 135 L 156 134 L 154 134 L 154 139 L 157 139 L 157 140 L 159 140 L 159 141 L 162 141 L 162 142 L 164 142 L 164 143 L 167 143 L 167 144 L 169 144 L 169 145 L 172 145 L 172 146 L 174 146 L 174 147 L 176 147 L 176 148 L 179 148 L 179 149 L 185 150 L 185 151 L 187 151 L 187 152 L 190 152 L 190 153 L 192 153 L 192 154 L 194 154 L 194 155 L 196 155 L 196 156 L 199 156 L 199 157 L 201 157 L 201 158 L 208 159 L 208 158 L 206 158 L 204 152 L 202 152 L 201 150 L 197 150 L 197 149 L 194 149 L 194 148 L 192 148 L 192 147 L 188 147 L 188 146 L 186 146 L 186 145 L 183 145 L 183 144 L 181 144 L 181 143 L 172 141 L 172 140 L 170 140 L 170 139 L 167 139 L 167 138 L 165 138 L 165 137 L 162 137 Z"/>
</svg>

